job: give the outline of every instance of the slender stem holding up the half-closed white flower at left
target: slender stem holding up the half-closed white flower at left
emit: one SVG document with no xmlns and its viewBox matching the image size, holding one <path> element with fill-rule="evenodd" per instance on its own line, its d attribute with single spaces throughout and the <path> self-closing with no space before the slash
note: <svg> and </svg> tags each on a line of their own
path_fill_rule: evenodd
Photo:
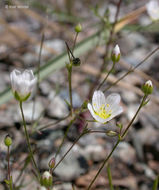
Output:
<svg viewBox="0 0 159 190">
<path fill-rule="evenodd" d="M 30 141 L 29 141 L 29 134 L 28 134 L 28 131 L 27 131 L 27 128 L 26 128 L 26 122 L 25 122 L 25 117 L 24 117 L 24 113 L 23 113 L 22 101 L 19 102 L 19 105 L 20 105 L 20 110 L 21 110 L 21 114 L 22 114 L 24 132 L 25 132 L 25 137 L 26 137 L 26 141 L 27 141 L 27 145 L 28 145 L 28 150 L 29 150 L 30 157 L 31 157 L 31 160 L 33 162 L 33 165 L 34 165 L 34 167 L 35 167 L 35 169 L 37 171 L 38 179 L 40 179 L 40 173 L 39 173 L 38 167 L 36 165 L 36 162 L 34 160 L 33 152 L 32 152 Z"/>
</svg>

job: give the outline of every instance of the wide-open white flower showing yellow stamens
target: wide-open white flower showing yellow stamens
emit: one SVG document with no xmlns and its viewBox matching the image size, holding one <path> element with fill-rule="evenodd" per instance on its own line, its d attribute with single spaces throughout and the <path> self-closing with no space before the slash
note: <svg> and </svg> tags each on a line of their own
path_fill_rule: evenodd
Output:
<svg viewBox="0 0 159 190">
<path fill-rule="evenodd" d="M 119 103 L 119 94 L 112 93 L 105 98 L 104 93 L 98 90 L 93 94 L 92 105 L 88 103 L 87 107 L 96 121 L 106 123 L 123 112 Z"/>
</svg>

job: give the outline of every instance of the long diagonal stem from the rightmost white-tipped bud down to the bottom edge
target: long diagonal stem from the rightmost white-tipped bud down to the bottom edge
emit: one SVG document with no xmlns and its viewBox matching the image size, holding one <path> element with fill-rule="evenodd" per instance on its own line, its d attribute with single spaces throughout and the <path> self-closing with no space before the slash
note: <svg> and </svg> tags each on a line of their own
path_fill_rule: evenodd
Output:
<svg viewBox="0 0 159 190">
<path fill-rule="evenodd" d="M 115 149 L 117 148 L 117 146 L 119 145 L 120 141 L 123 140 L 123 138 L 125 137 L 125 135 L 127 134 L 130 126 L 132 125 L 132 123 L 134 122 L 136 116 L 138 115 L 140 109 L 143 107 L 144 105 L 144 102 L 147 98 L 147 95 L 144 95 L 142 101 L 141 101 L 141 104 L 136 112 L 136 114 L 134 115 L 134 117 L 132 118 L 132 120 L 130 121 L 130 123 L 128 124 L 128 126 L 126 127 L 125 131 L 123 132 L 123 134 L 121 135 L 121 137 L 118 138 L 118 141 L 117 143 L 114 145 L 112 151 L 109 153 L 109 155 L 106 157 L 106 159 L 104 160 L 102 166 L 99 168 L 97 174 L 95 175 L 95 177 L 93 178 L 93 180 L 91 181 L 90 185 L 88 186 L 87 190 L 90 190 L 93 183 L 95 182 L 96 178 L 98 177 L 98 175 L 100 174 L 101 170 L 103 169 L 103 167 L 105 166 L 105 164 L 107 163 L 107 161 L 109 160 L 109 158 L 112 156 L 113 152 L 115 151 Z"/>
</svg>

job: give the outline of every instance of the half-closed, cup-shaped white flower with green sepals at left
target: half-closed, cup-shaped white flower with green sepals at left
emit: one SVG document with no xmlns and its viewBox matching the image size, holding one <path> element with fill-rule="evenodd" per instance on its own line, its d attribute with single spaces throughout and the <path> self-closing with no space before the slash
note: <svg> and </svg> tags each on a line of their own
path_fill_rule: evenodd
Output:
<svg viewBox="0 0 159 190">
<path fill-rule="evenodd" d="M 21 73 L 16 69 L 10 73 L 10 80 L 14 96 L 20 101 L 25 101 L 30 96 L 37 81 L 32 70 Z"/>
</svg>

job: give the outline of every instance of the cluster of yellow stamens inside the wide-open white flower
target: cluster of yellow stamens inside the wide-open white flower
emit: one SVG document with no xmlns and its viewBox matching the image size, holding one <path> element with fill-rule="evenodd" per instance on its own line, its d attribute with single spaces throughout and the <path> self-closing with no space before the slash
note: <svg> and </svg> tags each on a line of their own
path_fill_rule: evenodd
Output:
<svg viewBox="0 0 159 190">
<path fill-rule="evenodd" d="M 101 117 L 102 119 L 109 118 L 112 113 L 111 110 L 106 110 L 106 107 L 109 108 L 109 106 L 110 106 L 109 104 L 107 104 L 106 106 L 102 104 L 101 107 L 99 108 L 99 111 L 95 112 L 95 114 Z"/>
</svg>

